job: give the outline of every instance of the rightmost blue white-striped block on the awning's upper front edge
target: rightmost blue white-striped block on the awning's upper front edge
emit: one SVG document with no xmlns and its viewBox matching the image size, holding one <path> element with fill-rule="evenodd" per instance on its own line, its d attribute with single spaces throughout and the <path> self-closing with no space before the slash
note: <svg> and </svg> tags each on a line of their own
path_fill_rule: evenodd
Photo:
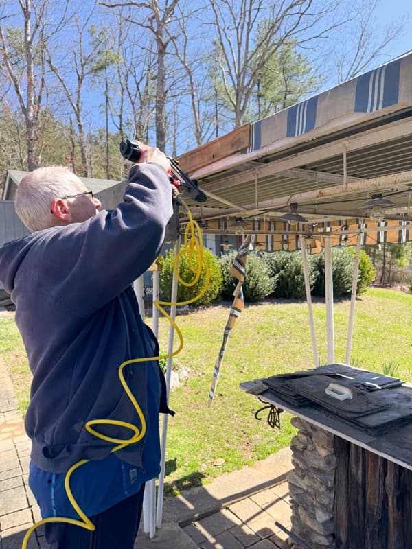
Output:
<svg viewBox="0 0 412 549">
<path fill-rule="evenodd" d="M 355 112 L 373 113 L 396 105 L 399 94 L 400 59 L 359 76 L 356 82 Z"/>
</svg>

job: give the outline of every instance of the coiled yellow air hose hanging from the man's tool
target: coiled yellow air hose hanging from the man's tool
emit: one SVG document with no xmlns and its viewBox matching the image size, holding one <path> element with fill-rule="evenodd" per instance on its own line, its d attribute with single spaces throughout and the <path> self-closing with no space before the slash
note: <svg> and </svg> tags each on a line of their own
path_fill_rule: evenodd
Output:
<svg viewBox="0 0 412 549">
<path fill-rule="evenodd" d="M 116 445 L 115 447 L 113 447 L 111 449 L 111 454 L 113 454 L 114 452 L 117 452 L 117 450 L 122 449 L 122 448 L 124 448 L 124 447 L 126 447 L 130 444 L 135 444 L 135 443 L 141 441 L 141 439 L 143 439 L 144 435 L 146 434 L 146 421 L 144 419 L 143 412 L 141 412 L 141 408 L 140 408 L 139 404 L 137 403 L 137 400 L 135 399 L 135 397 L 133 396 L 133 393 L 131 392 L 130 388 L 128 388 L 128 385 L 126 384 L 126 380 L 124 379 L 124 375 L 123 375 L 124 367 L 127 366 L 128 364 L 135 364 L 136 362 L 149 362 L 150 360 L 159 360 L 161 358 L 170 358 L 170 357 L 180 353 L 180 351 L 183 349 L 183 336 L 182 336 L 182 333 L 181 333 L 179 327 L 174 322 L 174 320 L 171 318 L 171 316 L 167 312 L 165 312 L 165 309 L 163 309 L 163 306 L 189 305 L 190 303 L 194 303 L 194 301 L 197 301 L 198 299 L 201 298 L 201 296 L 203 296 L 203 294 L 206 292 L 207 287 L 209 285 L 209 276 L 210 275 L 209 275 L 209 268 L 208 268 L 207 263 L 205 261 L 205 258 L 203 256 L 203 242 L 202 242 L 201 229 L 198 226 L 198 223 L 195 220 L 193 220 L 192 214 L 190 213 L 189 209 L 185 205 L 185 202 L 183 202 L 182 200 L 181 200 L 181 202 L 183 203 L 183 206 L 187 210 L 187 215 L 189 217 L 189 222 L 187 222 L 186 229 L 185 229 L 183 247 L 181 248 L 181 250 L 179 251 L 179 253 L 176 255 L 176 257 L 174 259 L 174 272 L 176 272 L 177 279 L 181 284 L 183 284 L 187 287 L 190 287 L 190 286 L 194 286 L 196 284 L 199 277 L 201 276 L 202 266 L 204 266 L 205 274 L 206 274 L 205 285 L 204 285 L 203 289 L 201 290 L 201 292 L 197 296 L 195 296 L 192 299 L 188 299 L 187 301 L 181 301 L 181 302 L 177 302 L 177 303 L 171 303 L 171 302 L 168 302 L 168 301 L 155 301 L 154 302 L 155 307 L 157 307 L 157 309 L 159 309 L 159 311 L 163 314 L 163 316 L 168 318 L 170 324 L 174 327 L 174 329 L 176 330 L 176 333 L 179 336 L 179 347 L 178 347 L 178 349 L 176 349 L 176 351 L 173 351 L 172 353 L 169 353 L 168 355 L 164 355 L 164 356 L 152 356 L 152 357 L 133 358 L 133 359 L 130 359 L 130 360 L 125 360 L 119 366 L 118 375 L 119 375 L 120 383 L 122 384 L 124 390 L 126 391 L 126 394 L 128 395 L 130 401 L 132 402 L 133 407 L 135 408 L 135 410 L 137 412 L 137 415 L 139 416 L 139 420 L 140 420 L 140 423 L 141 423 L 141 430 L 139 431 L 139 428 L 137 428 L 136 425 L 133 425 L 133 423 L 128 423 L 126 421 L 120 421 L 120 420 L 117 420 L 117 419 L 92 419 L 91 421 L 87 421 L 87 423 L 85 425 L 85 428 L 89 433 L 93 434 L 98 439 L 102 439 L 104 441 L 111 442 L 111 443 Z M 194 272 L 194 274 L 195 274 L 194 279 L 190 283 L 187 283 L 187 282 L 183 281 L 181 279 L 180 275 L 179 275 L 179 260 L 181 258 L 181 255 L 183 255 L 183 254 L 188 255 L 189 262 L 190 262 L 190 268 L 191 268 L 192 272 Z M 119 427 L 126 427 L 126 428 L 132 430 L 134 432 L 134 434 L 130 439 L 126 439 L 126 440 L 124 440 L 124 439 L 115 439 L 111 436 L 106 436 L 106 435 L 96 431 L 95 429 L 93 429 L 91 427 L 91 425 L 116 425 L 116 426 L 119 426 Z M 47 524 L 48 522 L 65 522 L 67 524 L 74 524 L 75 526 L 80 526 L 80 528 L 85 528 L 86 530 L 90 530 L 92 532 L 93 532 L 93 530 L 95 530 L 95 525 L 83 513 L 82 509 L 80 509 L 80 506 L 78 505 L 78 503 L 74 499 L 73 494 L 71 493 L 71 489 L 70 489 L 71 474 L 73 473 L 73 471 L 78 469 L 78 467 L 81 467 L 82 465 L 84 465 L 84 463 L 87 463 L 88 461 L 89 461 L 88 459 L 82 459 L 82 460 L 78 461 L 77 463 L 75 463 L 74 465 L 72 465 L 70 467 L 69 471 L 67 471 L 67 474 L 66 474 L 66 477 L 65 477 L 65 489 L 66 489 L 66 493 L 67 493 L 67 498 L 69 498 L 69 501 L 70 501 L 71 505 L 73 506 L 73 509 L 75 509 L 76 513 L 78 513 L 78 515 L 80 517 L 80 520 L 71 519 L 71 518 L 68 518 L 68 517 L 48 517 L 48 518 L 39 520 L 38 522 L 36 522 L 36 524 L 33 524 L 33 526 L 29 530 L 27 530 L 27 533 L 26 533 L 26 535 L 23 539 L 23 544 L 21 546 L 22 549 L 27 549 L 27 542 L 29 540 L 30 535 L 32 535 L 32 532 L 34 532 L 34 530 L 36 530 L 36 528 L 38 528 L 38 526 L 41 526 L 42 524 Z"/>
</svg>

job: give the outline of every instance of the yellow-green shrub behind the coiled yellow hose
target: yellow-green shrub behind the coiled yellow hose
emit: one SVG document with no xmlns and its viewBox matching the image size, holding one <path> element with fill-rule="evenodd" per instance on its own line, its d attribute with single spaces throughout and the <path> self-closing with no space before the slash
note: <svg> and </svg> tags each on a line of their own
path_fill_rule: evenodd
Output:
<svg viewBox="0 0 412 549">
<path fill-rule="evenodd" d="M 182 248 L 184 250 L 184 248 Z M 220 271 L 220 262 L 218 257 L 211 253 L 206 248 L 203 248 L 203 257 L 207 266 L 209 267 L 209 285 L 203 296 L 197 301 L 194 301 L 193 305 L 198 307 L 200 305 L 209 305 L 211 301 L 216 299 L 220 290 L 222 289 L 222 272 Z M 197 268 L 197 258 L 192 256 L 193 266 Z M 172 296 L 172 279 L 173 279 L 173 268 L 174 268 L 174 253 L 172 250 L 169 250 L 161 258 L 161 272 L 160 272 L 160 294 L 163 301 L 170 301 Z M 195 278 L 195 273 L 191 268 L 190 255 L 187 253 L 182 253 L 179 260 L 179 276 L 181 279 L 187 283 L 190 283 Z M 193 286 L 185 286 L 179 283 L 177 288 L 177 301 L 181 303 L 182 301 L 189 301 L 195 296 L 200 294 L 203 290 L 206 282 L 206 272 L 205 268 L 202 267 L 201 276 L 199 277 L 196 284 Z M 192 304 L 191 304 L 192 305 Z"/>
</svg>

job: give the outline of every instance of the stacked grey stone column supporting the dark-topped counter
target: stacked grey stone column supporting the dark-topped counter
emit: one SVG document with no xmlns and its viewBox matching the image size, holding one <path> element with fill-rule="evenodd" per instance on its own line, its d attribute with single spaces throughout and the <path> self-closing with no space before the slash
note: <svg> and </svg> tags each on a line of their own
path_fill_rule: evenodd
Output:
<svg viewBox="0 0 412 549">
<path fill-rule="evenodd" d="M 310 549 L 336 549 L 334 542 L 334 435 L 294 417 L 289 491 L 291 531 Z M 297 544 L 289 539 L 290 549 Z M 300 549 L 300 546 L 299 546 Z"/>
</svg>

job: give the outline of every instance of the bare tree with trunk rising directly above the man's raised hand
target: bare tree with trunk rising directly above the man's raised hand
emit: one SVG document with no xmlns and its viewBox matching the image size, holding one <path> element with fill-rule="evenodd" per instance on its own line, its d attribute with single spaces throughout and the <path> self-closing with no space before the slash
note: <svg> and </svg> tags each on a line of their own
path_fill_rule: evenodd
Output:
<svg viewBox="0 0 412 549">
<path fill-rule="evenodd" d="M 157 0 L 148 0 L 139 2 L 130 0 L 124 2 L 105 3 L 100 1 L 101 5 L 107 8 L 133 8 L 130 9 L 130 15 L 124 15 L 126 21 L 135 23 L 149 30 L 155 39 L 156 54 L 157 54 L 157 84 L 156 84 L 156 100 L 155 100 L 155 116 L 156 116 L 156 144 L 161 150 L 165 150 L 166 141 L 166 117 L 165 104 L 167 97 L 166 88 L 166 56 L 170 45 L 170 36 L 166 33 L 166 29 L 174 16 L 174 9 L 179 0 L 166 0 L 163 7 L 159 5 Z M 146 10 L 146 18 L 142 16 Z"/>
</svg>

